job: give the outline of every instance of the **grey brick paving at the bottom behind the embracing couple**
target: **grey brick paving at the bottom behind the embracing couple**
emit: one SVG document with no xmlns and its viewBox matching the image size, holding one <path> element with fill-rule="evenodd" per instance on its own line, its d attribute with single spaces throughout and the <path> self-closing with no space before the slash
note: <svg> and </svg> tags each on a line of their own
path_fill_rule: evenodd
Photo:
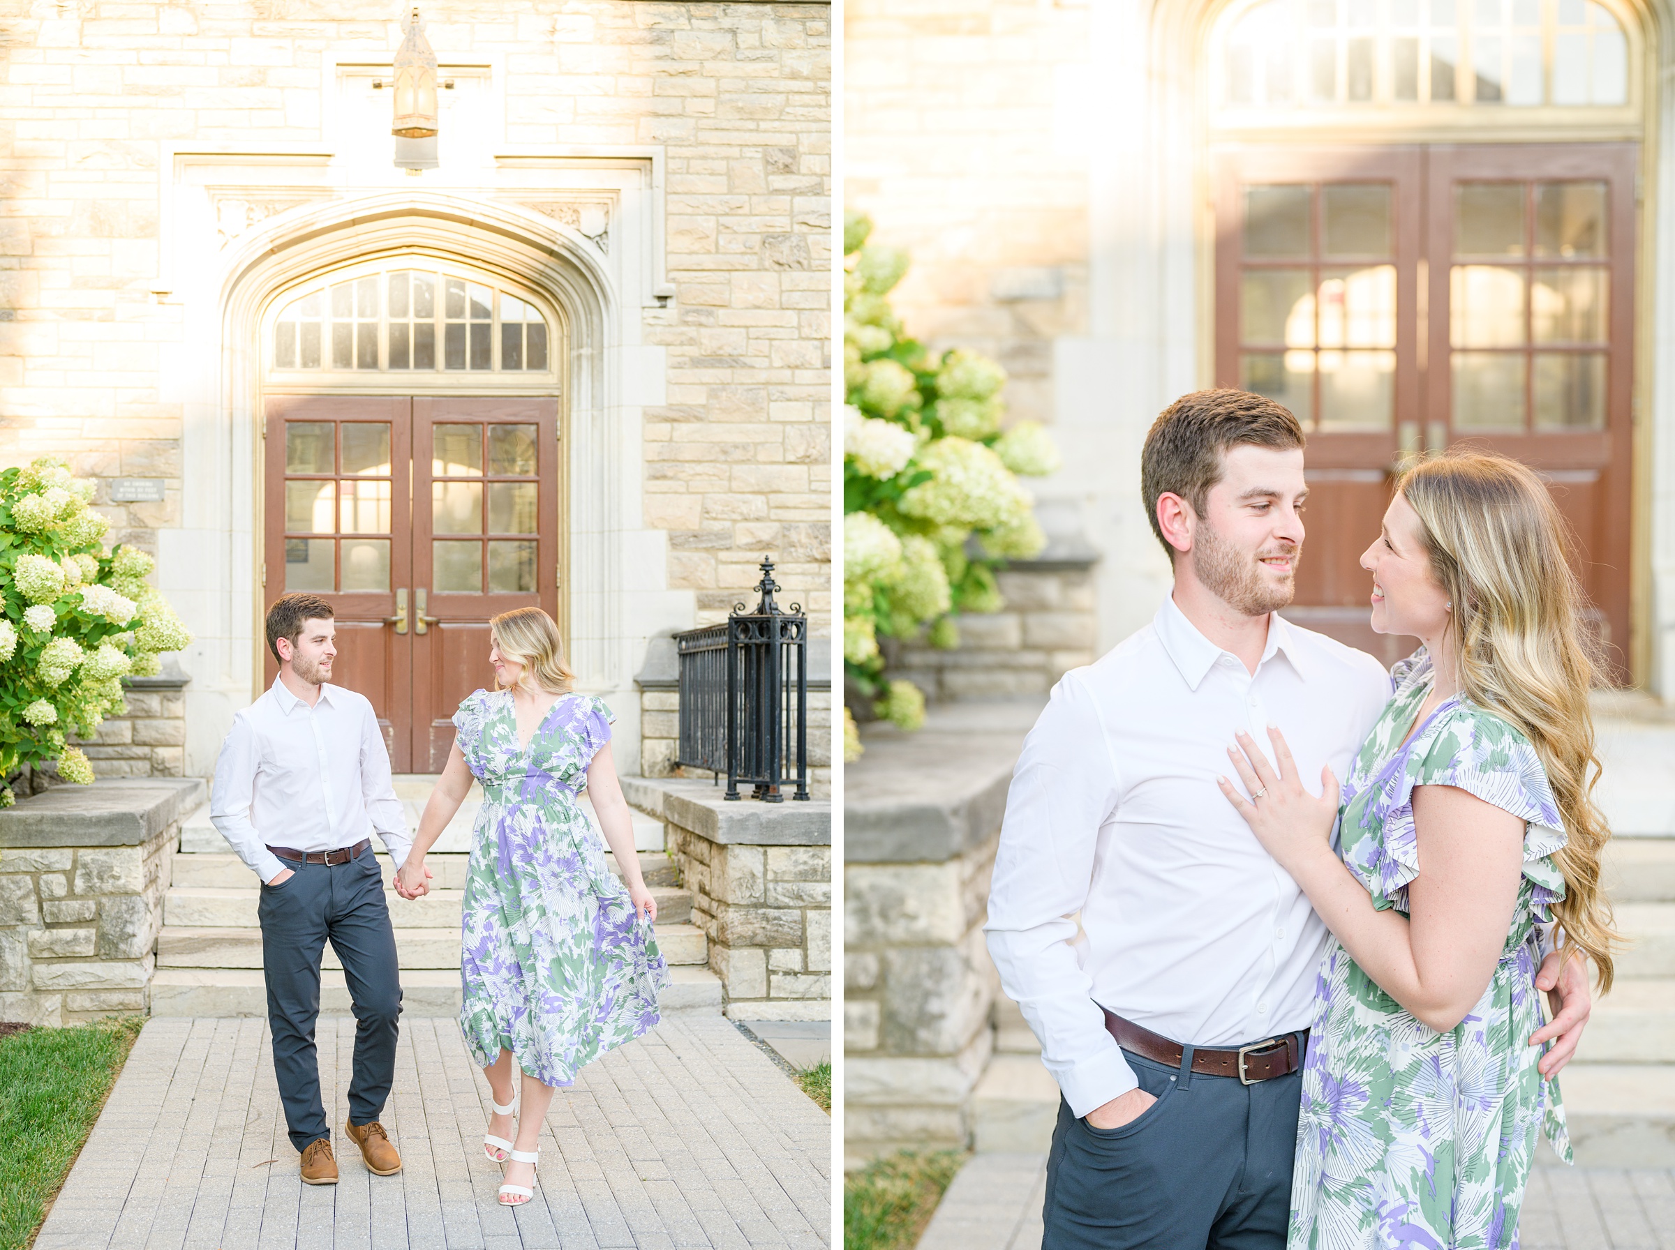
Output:
<svg viewBox="0 0 1675 1250">
<path fill-rule="evenodd" d="M 918 1250 L 1040 1250 L 1045 1155 L 973 1155 Z M 1523 1250 L 1675 1250 L 1675 1171 L 1538 1166 Z"/>
</svg>

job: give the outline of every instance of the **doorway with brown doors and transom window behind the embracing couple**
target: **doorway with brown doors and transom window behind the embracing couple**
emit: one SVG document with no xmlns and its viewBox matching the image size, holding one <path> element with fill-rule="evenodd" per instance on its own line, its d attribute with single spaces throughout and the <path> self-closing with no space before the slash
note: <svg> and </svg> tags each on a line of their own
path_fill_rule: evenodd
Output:
<svg viewBox="0 0 1675 1250">
<path fill-rule="evenodd" d="M 1291 614 L 1395 659 L 1357 557 L 1390 475 L 1467 445 L 1549 482 L 1591 622 L 1635 666 L 1648 54 L 1591 0 L 1258 0 L 1203 44 L 1214 382 L 1310 435 Z M 1389 654 L 1385 654 L 1389 653 Z"/>
</svg>

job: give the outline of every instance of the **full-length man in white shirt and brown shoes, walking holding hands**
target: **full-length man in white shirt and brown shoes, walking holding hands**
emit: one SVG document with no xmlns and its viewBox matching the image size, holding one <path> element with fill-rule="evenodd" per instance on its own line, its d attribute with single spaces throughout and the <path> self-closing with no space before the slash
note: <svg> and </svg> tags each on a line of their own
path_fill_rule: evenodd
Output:
<svg viewBox="0 0 1675 1250">
<path fill-rule="evenodd" d="M 216 828 L 261 879 L 273 1071 L 308 1185 L 337 1183 L 315 1058 L 327 940 L 343 964 L 357 1021 L 347 1131 L 372 1171 L 400 1171 L 379 1123 L 395 1074 L 400 966 L 370 835 L 379 833 L 395 867 L 412 838 L 372 704 L 327 684 L 337 656 L 332 617 L 332 604 L 313 594 L 288 594 L 268 609 L 280 674 L 233 720 L 209 803 Z"/>
</svg>

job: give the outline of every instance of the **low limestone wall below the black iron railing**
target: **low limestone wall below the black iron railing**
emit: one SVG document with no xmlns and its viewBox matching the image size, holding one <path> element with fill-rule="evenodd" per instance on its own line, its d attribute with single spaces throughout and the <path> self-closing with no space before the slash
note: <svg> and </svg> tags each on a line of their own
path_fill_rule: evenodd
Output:
<svg viewBox="0 0 1675 1250">
<path fill-rule="evenodd" d="M 628 778 L 625 791 L 665 822 L 727 1014 L 831 1019 L 831 803 L 729 803 L 722 790 L 688 780 Z"/>
</svg>

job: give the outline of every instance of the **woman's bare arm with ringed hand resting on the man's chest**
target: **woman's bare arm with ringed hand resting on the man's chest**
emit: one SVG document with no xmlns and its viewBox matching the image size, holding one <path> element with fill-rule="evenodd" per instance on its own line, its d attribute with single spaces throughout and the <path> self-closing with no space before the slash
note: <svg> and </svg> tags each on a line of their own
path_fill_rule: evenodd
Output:
<svg viewBox="0 0 1675 1250">
<path fill-rule="evenodd" d="M 1251 803 L 1224 778 L 1223 793 L 1362 971 L 1419 1021 L 1451 1031 L 1482 997 L 1506 944 L 1524 863 L 1524 822 L 1457 786 L 1415 786 L 1424 870 L 1407 887 L 1409 917 L 1380 912 L 1332 850 L 1337 778 L 1325 770 L 1323 793 L 1306 793 L 1285 738 L 1278 730 L 1268 735 L 1278 773 L 1250 735 L 1240 735 L 1243 753 L 1234 755 L 1250 793 L 1266 788 L 1261 800 Z"/>
</svg>

